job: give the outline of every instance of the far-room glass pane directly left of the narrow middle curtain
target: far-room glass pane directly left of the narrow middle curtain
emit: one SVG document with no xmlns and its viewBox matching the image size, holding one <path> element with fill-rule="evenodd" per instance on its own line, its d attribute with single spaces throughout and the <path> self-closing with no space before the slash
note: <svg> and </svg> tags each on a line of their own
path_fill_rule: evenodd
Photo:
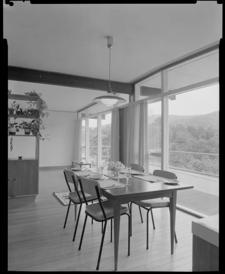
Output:
<svg viewBox="0 0 225 274">
<path fill-rule="evenodd" d="M 101 161 L 110 160 L 112 113 L 101 115 Z"/>
</svg>

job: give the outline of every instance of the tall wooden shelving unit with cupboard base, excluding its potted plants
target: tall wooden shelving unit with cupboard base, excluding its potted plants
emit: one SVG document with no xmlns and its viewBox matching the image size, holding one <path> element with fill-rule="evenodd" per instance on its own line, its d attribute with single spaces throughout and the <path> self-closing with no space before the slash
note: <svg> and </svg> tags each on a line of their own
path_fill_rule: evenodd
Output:
<svg viewBox="0 0 225 274">
<path fill-rule="evenodd" d="M 40 97 L 8 94 L 9 100 L 36 101 L 36 109 L 40 109 Z M 35 116 L 25 116 L 8 114 L 8 118 L 36 119 L 38 127 L 40 118 Z M 39 128 L 38 128 L 39 130 Z M 8 197 L 24 197 L 38 195 L 39 189 L 39 138 L 34 135 L 15 134 L 9 137 L 35 137 L 35 157 L 34 158 L 8 158 Z"/>
</svg>

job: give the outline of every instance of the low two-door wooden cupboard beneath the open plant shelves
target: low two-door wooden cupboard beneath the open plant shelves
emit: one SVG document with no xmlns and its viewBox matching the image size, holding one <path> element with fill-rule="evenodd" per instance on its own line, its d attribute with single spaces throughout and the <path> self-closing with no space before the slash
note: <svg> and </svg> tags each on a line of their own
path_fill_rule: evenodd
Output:
<svg viewBox="0 0 225 274">
<path fill-rule="evenodd" d="M 38 194 L 38 160 L 8 161 L 8 197 Z"/>
</svg>

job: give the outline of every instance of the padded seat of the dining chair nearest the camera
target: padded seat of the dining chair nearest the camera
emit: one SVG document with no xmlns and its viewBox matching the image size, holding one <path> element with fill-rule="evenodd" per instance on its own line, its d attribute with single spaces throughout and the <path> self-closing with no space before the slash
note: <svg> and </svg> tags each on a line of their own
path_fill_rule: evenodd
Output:
<svg viewBox="0 0 225 274">
<path fill-rule="evenodd" d="M 113 217 L 113 205 L 110 201 L 103 201 L 102 202 L 103 208 L 105 210 L 105 215 L 108 218 Z M 125 206 L 121 206 L 120 213 L 126 213 L 128 211 L 128 208 Z M 102 213 L 101 207 L 99 203 L 90 204 L 86 206 L 86 212 L 93 216 L 97 220 L 103 220 L 104 215 Z"/>
</svg>

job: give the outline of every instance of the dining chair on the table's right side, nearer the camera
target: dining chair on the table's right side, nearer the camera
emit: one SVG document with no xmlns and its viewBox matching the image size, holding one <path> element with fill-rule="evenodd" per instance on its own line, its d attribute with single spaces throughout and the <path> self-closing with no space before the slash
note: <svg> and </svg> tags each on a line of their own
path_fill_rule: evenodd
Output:
<svg viewBox="0 0 225 274">
<path fill-rule="evenodd" d="M 154 170 L 153 175 L 164 177 L 164 178 L 171 179 L 171 180 L 177 179 L 177 176 L 175 173 L 165 171 L 165 170 Z M 138 205 L 139 209 L 141 207 L 141 208 L 144 208 L 147 210 L 147 248 L 146 249 L 148 249 L 148 213 L 149 213 L 149 211 L 151 211 L 153 229 L 155 229 L 155 222 L 154 222 L 154 218 L 153 218 L 152 209 L 153 208 L 169 207 L 169 201 L 162 200 L 161 198 L 157 198 L 157 199 L 149 199 L 149 200 L 131 202 L 131 204 L 130 204 L 131 236 L 132 236 L 132 204 Z M 141 214 L 141 210 L 140 210 L 140 214 Z M 142 215 L 141 215 L 141 223 L 143 223 Z M 175 243 L 177 243 L 176 232 L 175 232 L 174 237 L 175 237 Z"/>
</svg>

